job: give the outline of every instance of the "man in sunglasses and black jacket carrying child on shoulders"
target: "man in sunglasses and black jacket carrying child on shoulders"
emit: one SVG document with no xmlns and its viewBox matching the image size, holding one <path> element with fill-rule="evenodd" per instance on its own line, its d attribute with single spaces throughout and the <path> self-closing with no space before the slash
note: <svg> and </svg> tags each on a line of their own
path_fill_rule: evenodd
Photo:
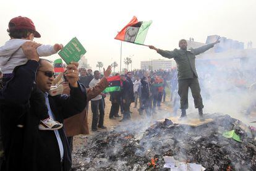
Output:
<svg viewBox="0 0 256 171">
<path fill-rule="evenodd" d="M 71 168 L 71 157 L 64 128 L 56 131 L 38 130 L 39 119 L 35 106 L 29 101 L 33 83 L 45 93 L 38 97 L 46 102 L 48 114 L 63 120 L 85 108 L 85 88 L 78 83 L 76 62 L 67 65 L 65 73 L 70 96 L 50 96 L 54 68 L 48 60 L 39 60 L 39 44 L 22 45 L 28 62 L 14 69 L 14 77 L 0 91 L 1 133 L 4 144 L 4 162 L 1 170 L 65 170 Z"/>
</svg>

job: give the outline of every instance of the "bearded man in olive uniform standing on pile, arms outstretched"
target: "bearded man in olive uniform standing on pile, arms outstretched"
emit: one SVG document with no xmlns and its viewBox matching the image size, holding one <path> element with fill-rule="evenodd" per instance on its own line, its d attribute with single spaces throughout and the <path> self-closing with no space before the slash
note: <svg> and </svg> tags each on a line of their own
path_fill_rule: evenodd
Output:
<svg viewBox="0 0 256 171">
<path fill-rule="evenodd" d="M 195 108 L 198 109 L 200 120 L 203 120 L 203 100 L 200 94 L 200 85 L 198 83 L 197 70 L 195 69 L 195 56 L 207 51 L 217 43 L 220 43 L 220 38 L 215 43 L 210 43 L 196 49 L 187 50 L 187 41 L 182 39 L 179 41 L 179 48 L 173 51 L 163 51 L 155 48 L 155 46 L 148 46 L 154 49 L 163 57 L 169 59 L 173 58 L 177 64 L 177 77 L 179 83 L 179 96 L 181 97 L 181 119 L 187 117 L 186 109 L 189 107 L 188 93 L 189 87 L 194 98 Z"/>
</svg>

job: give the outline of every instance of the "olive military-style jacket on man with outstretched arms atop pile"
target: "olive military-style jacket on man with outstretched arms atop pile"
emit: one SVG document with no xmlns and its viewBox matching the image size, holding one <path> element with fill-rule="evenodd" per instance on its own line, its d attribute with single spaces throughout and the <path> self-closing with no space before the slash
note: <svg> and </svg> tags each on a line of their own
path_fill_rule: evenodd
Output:
<svg viewBox="0 0 256 171">
<path fill-rule="evenodd" d="M 186 78 L 197 78 L 197 70 L 195 69 L 195 56 L 213 48 L 215 43 L 210 43 L 196 49 L 182 50 L 174 49 L 173 51 L 163 51 L 158 49 L 158 53 L 169 59 L 173 58 L 177 64 L 178 80 Z"/>
</svg>

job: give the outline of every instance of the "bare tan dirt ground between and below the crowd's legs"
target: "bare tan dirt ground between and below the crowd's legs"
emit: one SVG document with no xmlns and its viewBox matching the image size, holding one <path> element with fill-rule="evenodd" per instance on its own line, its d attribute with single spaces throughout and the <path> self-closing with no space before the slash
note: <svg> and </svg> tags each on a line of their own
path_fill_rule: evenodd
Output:
<svg viewBox="0 0 256 171">
<path fill-rule="evenodd" d="M 104 118 L 104 125 L 107 127 L 107 129 L 114 127 L 116 125 L 121 125 L 122 122 L 119 122 L 119 120 L 122 119 L 122 117 L 117 118 L 117 119 L 109 119 L 109 112 L 111 109 L 111 102 L 109 101 L 109 95 L 106 96 L 105 98 L 106 102 L 106 107 L 105 107 L 105 118 Z M 138 100 L 138 105 L 137 108 L 134 108 L 134 102 L 130 105 L 130 111 L 132 112 L 131 114 L 131 119 L 132 120 L 137 120 L 140 119 L 141 117 L 145 117 L 145 112 L 143 113 L 142 116 L 139 115 L 138 112 L 139 109 L 139 100 Z M 171 104 L 169 102 L 169 99 L 166 97 L 166 102 L 161 103 L 161 109 L 166 112 L 172 112 Z M 121 115 L 121 112 L 119 111 L 119 115 Z M 121 115 L 122 116 L 122 115 Z M 89 110 L 88 110 L 88 123 L 89 123 L 89 128 L 90 128 L 90 135 L 77 135 L 74 136 L 73 140 L 73 148 L 74 151 L 76 151 L 80 146 L 86 143 L 87 137 L 92 136 L 93 134 L 97 133 L 98 131 L 103 131 L 102 129 L 98 128 L 98 131 L 91 131 L 91 126 L 92 126 L 92 110 L 91 110 L 91 104 L 89 102 Z"/>
</svg>

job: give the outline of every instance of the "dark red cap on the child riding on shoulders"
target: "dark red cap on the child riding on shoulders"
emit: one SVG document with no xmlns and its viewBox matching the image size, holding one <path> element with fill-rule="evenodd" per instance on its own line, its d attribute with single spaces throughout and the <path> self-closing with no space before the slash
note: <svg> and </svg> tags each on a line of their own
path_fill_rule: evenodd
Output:
<svg viewBox="0 0 256 171">
<path fill-rule="evenodd" d="M 40 38 L 41 35 L 35 29 L 35 25 L 32 20 L 28 19 L 27 17 L 15 17 L 10 20 L 9 22 L 9 29 L 8 30 L 20 30 L 20 29 L 28 29 L 35 31 L 35 38 Z"/>
</svg>

